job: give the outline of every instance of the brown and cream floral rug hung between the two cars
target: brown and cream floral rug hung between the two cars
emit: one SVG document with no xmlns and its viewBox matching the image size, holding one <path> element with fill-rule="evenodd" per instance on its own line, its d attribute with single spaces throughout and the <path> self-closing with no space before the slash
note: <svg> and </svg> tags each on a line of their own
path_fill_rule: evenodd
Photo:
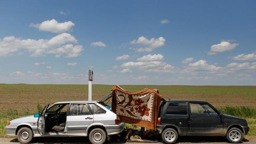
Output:
<svg viewBox="0 0 256 144">
<path fill-rule="evenodd" d="M 162 96 L 153 89 L 129 92 L 117 85 L 112 88 L 112 111 L 121 121 L 136 126 L 156 130 L 161 100 Z"/>
</svg>

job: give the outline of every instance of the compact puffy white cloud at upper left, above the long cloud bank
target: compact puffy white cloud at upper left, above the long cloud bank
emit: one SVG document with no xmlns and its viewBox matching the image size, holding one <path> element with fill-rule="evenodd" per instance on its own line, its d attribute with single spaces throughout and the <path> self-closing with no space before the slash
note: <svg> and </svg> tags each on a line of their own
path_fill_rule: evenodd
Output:
<svg viewBox="0 0 256 144">
<path fill-rule="evenodd" d="M 63 33 L 72 31 L 72 27 L 75 24 L 72 21 L 65 21 L 64 23 L 58 23 L 55 19 L 45 20 L 41 24 L 30 24 L 30 27 L 38 28 L 40 31 L 49 31 L 54 33 Z"/>
</svg>

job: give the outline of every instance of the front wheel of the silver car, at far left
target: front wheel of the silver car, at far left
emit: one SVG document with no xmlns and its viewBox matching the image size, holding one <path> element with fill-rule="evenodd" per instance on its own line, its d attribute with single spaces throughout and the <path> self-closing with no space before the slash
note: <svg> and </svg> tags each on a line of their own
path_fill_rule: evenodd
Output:
<svg viewBox="0 0 256 144">
<path fill-rule="evenodd" d="M 22 127 L 17 132 L 17 139 L 20 143 L 28 144 L 33 139 L 33 131 L 28 127 Z"/>
</svg>

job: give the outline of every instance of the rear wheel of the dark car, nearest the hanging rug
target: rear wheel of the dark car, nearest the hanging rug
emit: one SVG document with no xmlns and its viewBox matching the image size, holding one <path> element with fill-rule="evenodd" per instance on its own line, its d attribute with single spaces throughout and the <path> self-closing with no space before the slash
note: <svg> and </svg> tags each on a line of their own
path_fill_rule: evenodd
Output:
<svg viewBox="0 0 256 144">
<path fill-rule="evenodd" d="M 162 132 L 162 140 L 166 144 L 173 144 L 178 139 L 178 133 L 175 129 L 167 128 Z"/>
</svg>

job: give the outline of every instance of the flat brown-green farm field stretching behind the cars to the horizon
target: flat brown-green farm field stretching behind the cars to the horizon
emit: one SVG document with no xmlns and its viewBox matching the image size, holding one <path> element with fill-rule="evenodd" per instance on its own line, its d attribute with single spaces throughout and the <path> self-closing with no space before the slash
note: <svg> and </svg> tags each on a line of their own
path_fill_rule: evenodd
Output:
<svg viewBox="0 0 256 144">
<path fill-rule="evenodd" d="M 108 95 L 113 85 L 93 85 L 93 100 Z M 168 99 L 208 101 L 216 107 L 256 107 L 256 86 L 160 86 L 122 85 L 127 91 L 144 88 L 158 89 Z M 0 84 L 0 110 L 16 109 L 34 112 L 37 104 L 53 104 L 58 101 L 88 100 L 88 85 L 28 85 Z"/>
</svg>

